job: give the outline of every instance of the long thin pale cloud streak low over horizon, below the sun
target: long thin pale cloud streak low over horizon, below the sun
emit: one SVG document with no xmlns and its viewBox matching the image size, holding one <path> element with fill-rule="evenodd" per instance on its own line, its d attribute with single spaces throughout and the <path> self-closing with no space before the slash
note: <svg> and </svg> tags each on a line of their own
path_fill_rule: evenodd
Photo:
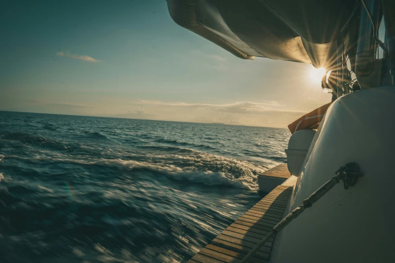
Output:
<svg viewBox="0 0 395 263">
<path fill-rule="evenodd" d="M 164 102 L 154 100 L 132 101 L 135 104 L 142 105 L 160 105 L 167 107 L 185 107 L 185 108 L 204 108 L 214 111 L 231 112 L 239 114 L 260 114 L 260 115 L 290 115 L 300 116 L 305 112 L 287 108 L 276 101 L 251 102 L 241 101 L 227 104 L 207 104 L 207 103 L 185 103 L 185 102 Z"/>
</svg>

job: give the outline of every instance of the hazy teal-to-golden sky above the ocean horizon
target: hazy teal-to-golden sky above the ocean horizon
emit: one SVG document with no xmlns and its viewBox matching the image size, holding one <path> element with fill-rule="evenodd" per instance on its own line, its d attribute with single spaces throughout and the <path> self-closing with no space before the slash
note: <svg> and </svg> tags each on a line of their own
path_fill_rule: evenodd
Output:
<svg viewBox="0 0 395 263">
<path fill-rule="evenodd" d="M 164 0 L 3 0 L 0 36 L 0 110 L 287 127 L 331 99 L 312 65 L 240 59 Z"/>
</svg>

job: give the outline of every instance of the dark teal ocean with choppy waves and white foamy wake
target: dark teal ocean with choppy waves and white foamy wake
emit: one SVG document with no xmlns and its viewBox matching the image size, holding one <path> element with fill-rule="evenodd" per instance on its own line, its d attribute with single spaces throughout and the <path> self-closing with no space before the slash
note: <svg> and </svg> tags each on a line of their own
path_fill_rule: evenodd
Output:
<svg viewBox="0 0 395 263">
<path fill-rule="evenodd" d="M 290 136 L 0 111 L 0 262 L 185 262 L 262 198 Z"/>
</svg>

